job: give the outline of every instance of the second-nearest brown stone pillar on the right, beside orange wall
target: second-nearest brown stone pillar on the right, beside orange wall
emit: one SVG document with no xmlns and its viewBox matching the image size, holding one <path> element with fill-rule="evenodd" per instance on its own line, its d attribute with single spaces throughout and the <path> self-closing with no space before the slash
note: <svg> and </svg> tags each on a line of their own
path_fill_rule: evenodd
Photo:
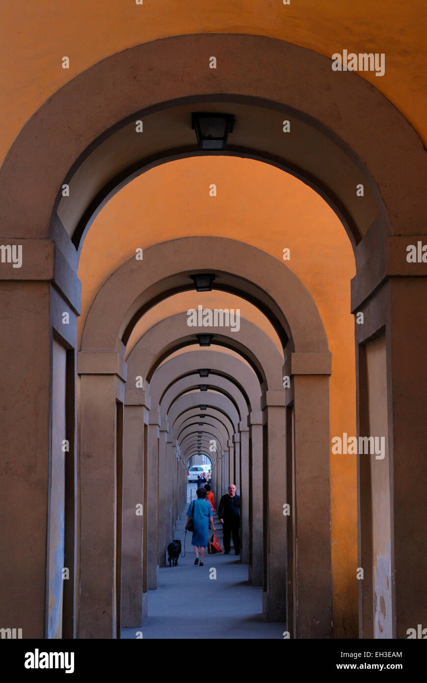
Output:
<svg viewBox="0 0 427 683">
<path fill-rule="evenodd" d="M 285 352 L 283 372 L 289 374 L 286 368 L 289 370 L 289 358 Z M 292 383 L 291 389 L 286 389 L 286 404 L 293 404 L 293 449 L 286 451 L 293 458 L 295 497 L 288 501 L 284 488 L 280 500 L 291 505 L 293 515 L 295 538 L 289 538 L 289 543 L 294 553 L 295 638 L 332 637 L 331 368 L 328 352 L 291 353 Z M 288 486 L 287 492 L 290 490 Z"/>
</svg>

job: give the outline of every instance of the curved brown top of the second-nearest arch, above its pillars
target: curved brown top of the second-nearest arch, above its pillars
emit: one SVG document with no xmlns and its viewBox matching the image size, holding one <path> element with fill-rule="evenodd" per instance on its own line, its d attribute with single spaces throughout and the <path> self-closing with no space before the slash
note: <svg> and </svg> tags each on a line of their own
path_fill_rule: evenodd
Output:
<svg viewBox="0 0 427 683">
<path fill-rule="evenodd" d="M 292 338 L 295 352 L 328 352 L 325 330 L 310 293 L 289 268 L 260 249 L 237 240 L 196 237 L 162 242 L 144 253 L 143 268 L 141 262 L 130 259 L 98 292 L 85 323 L 82 351 L 123 354 L 134 324 L 151 305 L 166 294 L 194 289 L 190 275 L 215 273 L 213 289 L 237 293 L 259 307 L 283 346 Z"/>
</svg>

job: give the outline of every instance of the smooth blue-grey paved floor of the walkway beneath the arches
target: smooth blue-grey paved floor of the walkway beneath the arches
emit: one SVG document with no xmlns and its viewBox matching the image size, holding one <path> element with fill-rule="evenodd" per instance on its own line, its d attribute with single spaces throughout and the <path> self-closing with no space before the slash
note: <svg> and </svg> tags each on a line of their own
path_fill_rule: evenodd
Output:
<svg viewBox="0 0 427 683">
<path fill-rule="evenodd" d="M 185 511 L 186 512 L 186 511 Z M 222 526 L 214 516 L 222 544 Z M 184 540 L 183 514 L 175 538 Z M 122 638 L 143 639 L 267 639 L 283 638 L 284 624 L 263 619 L 263 589 L 248 583 L 248 565 L 239 563 L 233 547 L 230 555 L 205 555 L 204 566 L 194 566 L 191 533 L 187 533 L 186 557 L 177 567 L 159 569 L 158 589 L 148 593 L 148 617 L 141 628 L 124 628 Z M 216 579 L 209 579 L 211 568 Z"/>
</svg>

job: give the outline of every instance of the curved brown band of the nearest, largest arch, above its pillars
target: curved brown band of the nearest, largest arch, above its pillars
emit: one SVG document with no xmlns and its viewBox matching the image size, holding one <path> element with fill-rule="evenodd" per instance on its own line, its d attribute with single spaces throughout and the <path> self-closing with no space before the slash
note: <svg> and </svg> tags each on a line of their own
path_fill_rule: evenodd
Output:
<svg viewBox="0 0 427 683">
<path fill-rule="evenodd" d="M 211 50 L 216 51 L 224 64 L 220 79 L 207 72 L 203 60 L 194 58 L 195 54 L 208 54 Z M 145 69 L 140 68 L 141 64 Z M 271 64 L 275 68 L 274 79 L 271 79 Z M 293 68 L 287 68 L 288 64 Z M 380 210 L 384 206 L 387 210 L 386 221 L 390 225 L 385 226 L 386 232 L 401 234 L 406 227 L 409 234 L 417 233 L 424 229 L 423 212 L 414 212 L 400 178 L 407 178 L 421 196 L 426 160 L 419 137 L 372 85 L 351 72 L 332 72 L 330 67 L 327 57 L 306 48 L 241 34 L 164 38 L 107 57 L 49 98 L 12 145 L 0 174 L 5 234 L 46 238 L 64 179 L 74 175 L 105 135 L 121 128 L 135 113 L 158 111 L 177 101 L 201 104 L 219 99 L 224 102 L 227 92 L 233 94 L 228 96 L 231 101 L 261 100 L 264 107 L 285 109 L 302 122 L 308 122 L 364 172 Z M 152 73 L 159 71 L 161 79 L 153 79 Z M 250 74 L 256 74 L 256 79 Z M 304 89 L 301 83 L 306 84 Z M 84 113 L 82 101 L 87 102 Z M 109 107 L 104 107 L 106 101 L 110 102 Z M 361 106 L 356 107 L 355 103 Z M 337 104 L 339 116 L 336 116 Z M 64 112 L 67 112 L 67 126 L 63 122 Z M 377 145 L 372 145 L 372 136 Z M 394 145 L 389 145 L 390 136 Z M 28 158 L 29 141 L 32 154 Z M 176 152 L 176 144 L 172 143 L 172 147 Z M 55 153 L 58 149 L 61 155 Z M 276 150 L 277 147 L 274 154 Z M 396 152 L 400 152 L 402 159 L 398 171 L 394 170 Z M 156 152 L 152 156 L 151 163 L 155 163 Z M 98 166 L 98 176 L 99 173 Z M 18 217 L 14 184 L 17 176 L 27 187 L 24 201 L 19 197 Z M 117 173 L 114 176 L 117 184 L 116 176 Z M 326 185 L 319 179 L 316 183 L 320 189 Z M 325 193 L 328 194 L 327 189 Z M 330 194 L 333 195 L 332 191 Z M 339 199 L 345 207 L 344 198 Z M 54 223 L 55 214 L 54 210 Z"/>
</svg>

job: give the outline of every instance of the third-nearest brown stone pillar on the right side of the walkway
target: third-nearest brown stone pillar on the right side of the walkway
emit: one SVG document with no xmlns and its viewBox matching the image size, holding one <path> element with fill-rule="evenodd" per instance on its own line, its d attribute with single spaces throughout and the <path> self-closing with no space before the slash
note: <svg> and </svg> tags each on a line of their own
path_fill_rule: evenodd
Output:
<svg viewBox="0 0 427 683">
<path fill-rule="evenodd" d="M 264 421 L 263 612 L 269 622 L 286 619 L 286 449 L 284 391 L 267 391 Z M 268 427 L 267 427 L 268 426 Z"/>
</svg>

